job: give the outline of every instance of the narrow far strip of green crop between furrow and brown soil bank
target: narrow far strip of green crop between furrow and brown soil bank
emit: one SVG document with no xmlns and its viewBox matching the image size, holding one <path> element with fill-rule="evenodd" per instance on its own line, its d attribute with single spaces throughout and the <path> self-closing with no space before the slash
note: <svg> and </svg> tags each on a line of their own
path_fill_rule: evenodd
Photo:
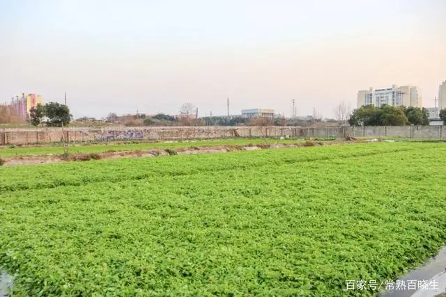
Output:
<svg viewBox="0 0 446 297">
<path fill-rule="evenodd" d="M 367 156 L 406 150 L 436 149 L 437 143 L 367 143 L 303 147 L 256 152 L 233 152 L 196 156 L 98 160 L 84 163 L 56 163 L 45 166 L 0 168 L 0 193 L 33 188 L 81 186 L 91 182 L 119 182 L 165 175 L 188 175 L 229 169 L 245 170 L 285 163 Z"/>
</svg>

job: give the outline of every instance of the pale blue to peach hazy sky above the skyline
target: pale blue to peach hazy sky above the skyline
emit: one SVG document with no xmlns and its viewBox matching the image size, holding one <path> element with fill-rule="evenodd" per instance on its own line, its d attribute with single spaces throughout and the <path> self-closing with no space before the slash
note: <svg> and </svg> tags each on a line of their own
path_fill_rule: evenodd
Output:
<svg viewBox="0 0 446 297">
<path fill-rule="evenodd" d="M 0 102 L 75 118 L 275 109 L 333 118 L 357 91 L 446 80 L 446 0 L 0 0 Z"/>
</svg>

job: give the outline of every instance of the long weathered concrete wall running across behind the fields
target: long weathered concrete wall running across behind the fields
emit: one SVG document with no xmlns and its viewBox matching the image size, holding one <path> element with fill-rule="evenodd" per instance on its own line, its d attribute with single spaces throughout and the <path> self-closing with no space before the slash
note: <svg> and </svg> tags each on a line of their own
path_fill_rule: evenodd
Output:
<svg viewBox="0 0 446 297">
<path fill-rule="evenodd" d="M 446 126 L 401 127 L 137 127 L 0 130 L 0 145 L 124 140 L 186 140 L 229 137 L 391 137 L 446 138 Z"/>
</svg>

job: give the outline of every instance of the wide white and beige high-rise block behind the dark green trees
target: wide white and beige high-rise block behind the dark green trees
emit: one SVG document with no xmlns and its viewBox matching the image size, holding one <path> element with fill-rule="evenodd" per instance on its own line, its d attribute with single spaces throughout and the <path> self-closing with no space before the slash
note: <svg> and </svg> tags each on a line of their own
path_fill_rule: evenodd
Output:
<svg viewBox="0 0 446 297">
<path fill-rule="evenodd" d="M 398 87 L 393 85 L 392 88 L 360 90 L 357 93 L 357 107 L 371 104 L 377 107 L 384 104 L 422 107 L 423 100 L 420 89 L 415 86 Z"/>
</svg>

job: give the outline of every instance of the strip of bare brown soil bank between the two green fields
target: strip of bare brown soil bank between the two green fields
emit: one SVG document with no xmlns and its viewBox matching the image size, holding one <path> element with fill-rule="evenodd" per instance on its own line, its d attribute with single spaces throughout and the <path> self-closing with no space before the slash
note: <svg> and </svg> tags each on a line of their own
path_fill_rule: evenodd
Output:
<svg viewBox="0 0 446 297">
<path fill-rule="evenodd" d="M 339 142 L 312 142 L 306 141 L 305 143 L 268 143 L 259 145 L 217 145 L 217 146 L 203 146 L 203 147 L 182 147 L 178 149 L 167 150 L 133 150 L 114 152 L 108 151 L 98 154 L 69 154 L 66 155 L 26 155 L 26 156 L 6 156 L 2 157 L 3 166 L 19 166 L 29 164 L 43 164 L 43 163 L 56 163 L 56 162 L 68 162 L 68 161 L 89 161 L 98 159 L 116 159 L 116 158 L 137 158 L 137 157 L 151 157 L 151 156 L 168 156 L 175 154 L 220 154 L 224 152 L 233 152 L 240 150 L 263 150 L 263 149 L 278 149 L 282 147 L 307 147 L 307 146 L 320 146 L 320 145 L 332 145 L 340 144 Z"/>
</svg>

